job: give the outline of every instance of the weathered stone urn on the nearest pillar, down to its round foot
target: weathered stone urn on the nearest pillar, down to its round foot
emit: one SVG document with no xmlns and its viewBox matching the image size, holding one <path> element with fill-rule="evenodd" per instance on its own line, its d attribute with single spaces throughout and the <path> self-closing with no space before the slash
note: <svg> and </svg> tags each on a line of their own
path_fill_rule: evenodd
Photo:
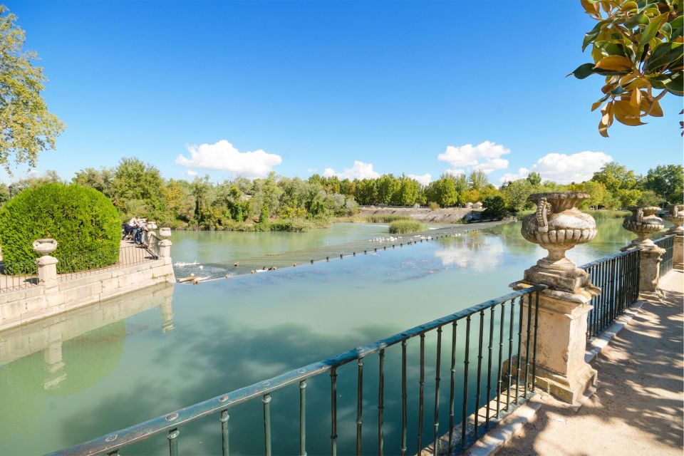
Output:
<svg viewBox="0 0 684 456">
<path fill-rule="evenodd" d="M 522 237 L 549 251 L 537 266 L 559 271 L 576 268 L 565 252 L 596 237 L 594 217 L 577 209 L 587 198 L 589 194 L 584 192 L 535 193 L 527 198 L 537 204 L 537 212 L 522 221 Z"/>
</svg>

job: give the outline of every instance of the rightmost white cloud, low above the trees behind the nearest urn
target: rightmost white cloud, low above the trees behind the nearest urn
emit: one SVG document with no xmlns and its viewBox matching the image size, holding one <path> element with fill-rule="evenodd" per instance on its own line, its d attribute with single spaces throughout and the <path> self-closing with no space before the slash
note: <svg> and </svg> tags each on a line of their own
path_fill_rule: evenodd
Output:
<svg viewBox="0 0 684 456">
<path fill-rule="evenodd" d="M 606 163 L 612 162 L 613 157 L 603 152 L 584 150 L 575 154 L 566 155 L 550 153 L 544 155 L 531 169 L 520 168 L 517 173 L 507 173 L 502 176 L 501 182 L 513 181 L 527 177 L 529 172 L 538 172 L 542 180 L 552 180 L 559 184 L 570 182 L 584 182 L 591 179 L 594 172 L 601 169 Z"/>
</svg>

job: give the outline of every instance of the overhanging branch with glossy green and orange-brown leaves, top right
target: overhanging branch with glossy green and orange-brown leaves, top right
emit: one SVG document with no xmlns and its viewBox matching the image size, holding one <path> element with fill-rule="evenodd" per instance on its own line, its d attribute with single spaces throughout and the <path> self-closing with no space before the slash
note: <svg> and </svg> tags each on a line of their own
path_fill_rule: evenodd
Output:
<svg viewBox="0 0 684 456">
<path fill-rule="evenodd" d="M 660 117 L 658 101 L 667 93 L 682 96 L 682 2 L 680 0 L 581 0 L 598 21 L 584 36 L 582 51 L 591 44 L 594 63 L 570 73 L 578 79 L 592 74 L 606 78 L 598 133 L 608 137 L 613 118 L 624 125 L 644 125 L 649 115 Z M 570 75 L 568 75 L 570 76 Z M 655 95 L 653 90 L 661 90 Z M 605 103 L 605 104 L 604 104 Z"/>
</svg>

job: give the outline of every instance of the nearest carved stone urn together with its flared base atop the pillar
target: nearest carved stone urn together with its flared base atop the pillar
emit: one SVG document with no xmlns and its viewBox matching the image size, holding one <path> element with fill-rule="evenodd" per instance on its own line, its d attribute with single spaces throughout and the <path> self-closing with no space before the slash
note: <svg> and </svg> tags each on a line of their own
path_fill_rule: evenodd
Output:
<svg viewBox="0 0 684 456">
<path fill-rule="evenodd" d="M 522 237 L 549 254 L 525 271 L 524 281 L 571 293 L 587 286 L 591 289 L 589 274 L 565 257 L 569 249 L 596 237 L 594 217 L 577 209 L 587 198 L 584 192 L 535 193 L 527 198 L 537 204 L 537 212 L 523 219 Z"/>
</svg>

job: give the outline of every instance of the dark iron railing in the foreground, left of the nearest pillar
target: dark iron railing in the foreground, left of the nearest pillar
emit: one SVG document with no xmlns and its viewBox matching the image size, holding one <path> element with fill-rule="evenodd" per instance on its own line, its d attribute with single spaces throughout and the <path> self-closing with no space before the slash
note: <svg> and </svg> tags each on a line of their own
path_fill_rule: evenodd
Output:
<svg viewBox="0 0 684 456">
<path fill-rule="evenodd" d="M 309 366 L 239 388 L 53 454 L 118 455 L 123 447 L 155 435 L 165 435 L 168 439 L 169 453 L 175 456 L 178 454 L 181 426 L 214 415 L 218 418 L 216 444 L 218 445 L 218 439 L 220 439 L 222 453 L 228 455 L 230 451 L 229 409 L 250 400 L 261 399 L 263 452 L 271 455 L 271 452 L 282 452 L 279 442 L 276 441 L 276 446 L 271 442 L 271 394 L 276 392 L 287 394 L 288 391 L 294 392 L 293 389 L 296 388 L 299 390 L 299 430 L 294 432 L 299 434 L 299 454 L 306 455 L 307 427 L 318 427 L 316 420 L 313 424 L 307 423 L 306 420 L 307 380 L 324 373 L 330 376 L 329 423 L 332 455 L 337 454 L 338 443 L 349 445 L 348 452 L 354 452 L 351 450 L 351 442 L 338 442 L 338 431 L 353 433 L 353 427 L 356 427 L 356 454 L 363 452 L 362 435 L 366 435 L 368 439 L 368 432 L 363 432 L 364 413 L 368 413 L 368 399 L 364 403 L 363 387 L 368 386 L 369 380 L 375 380 L 375 378 L 378 383 L 373 383 L 373 387 L 377 385 L 378 401 L 377 405 L 373 406 L 373 410 L 377 413 L 378 427 L 377 441 L 373 442 L 372 447 L 377 449 L 378 454 L 383 455 L 385 451 L 385 431 L 388 428 L 400 429 L 400 434 L 398 432 L 393 434 L 396 437 L 396 441 L 393 442 L 393 448 L 397 449 L 396 453 L 415 454 L 428 447 L 433 455 L 445 452 L 451 454 L 454 450 L 462 450 L 472 445 L 490 426 L 497 423 L 502 415 L 509 413 L 534 392 L 539 291 L 544 288 L 544 286 L 534 286 L 515 291 L 498 299 L 430 321 L 430 323 L 410 328 L 389 338 L 353 348 L 337 356 L 309 364 Z M 443 344 L 442 333 L 445 331 L 447 337 L 451 337 Z M 426 336 L 430 336 L 427 353 Z M 446 345 L 446 350 L 442 351 L 442 345 Z M 398 358 L 390 357 L 385 366 L 385 352 L 393 353 L 395 356 L 400 354 L 401 362 L 396 362 Z M 450 353 L 450 358 L 448 353 Z M 528 356 L 529 353 L 532 356 Z M 434 358 L 432 358 L 433 354 Z M 377 355 L 377 357 L 372 355 Z M 442 358 L 445 358 L 445 361 L 442 361 Z M 435 363 L 434 370 L 432 366 L 429 369 L 430 374 L 435 373 L 435 385 L 434 387 L 429 385 L 427 392 L 427 394 L 434 395 L 434 405 L 432 410 L 429 410 L 434 412 L 433 415 L 425 414 L 426 408 L 429 407 L 425 403 L 427 400 L 425 397 L 426 359 L 429 360 L 427 362 L 434 359 Z M 368 368 L 364 370 L 365 363 L 369 366 L 375 366 L 377 363 L 377 374 L 368 375 Z M 413 366 L 409 366 L 410 363 L 413 363 Z M 449 372 L 444 375 L 443 379 L 448 382 L 446 388 L 448 401 L 441 391 L 442 363 L 445 365 L 449 363 Z M 353 366 L 354 364 L 356 366 Z M 350 373 L 347 369 L 342 369 L 346 365 L 349 365 L 348 369 L 354 367 L 353 371 L 356 371 L 356 375 L 353 373 L 346 375 Z M 338 376 L 341 378 L 338 379 Z M 413 390 L 413 388 L 408 388 L 408 378 L 412 378 L 410 383 L 418 380 L 419 387 L 418 397 L 411 398 L 411 400 L 409 400 L 409 389 Z M 341 388 L 339 391 L 338 386 Z M 291 388 L 286 390 L 288 387 Z M 348 387 L 356 387 L 354 398 L 356 421 L 352 423 L 351 420 L 342 420 L 338 423 L 338 401 L 342 401 L 340 392 Z M 388 390 L 393 393 L 391 395 L 386 393 Z M 475 394 L 473 394 L 474 390 Z M 375 390 L 372 393 L 374 398 Z M 388 405 L 385 403 L 385 396 L 388 398 L 388 403 L 398 404 L 400 401 L 400 414 L 385 416 L 385 405 Z M 416 402 L 418 403 L 417 413 L 410 413 L 409 410 L 415 410 Z M 345 408 L 354 407 L 351 403 L 343 405 Z M 313 408 L 309 406 L 309 411 L 321 415 L 325 413 L 322 410 L 323 407 L 324 403 L 318 402 Z M 296 423 L 296 419 L 288 415 L 291 410 L 288 408 L 280 410 L 279 418 L 285 417 L 285 420 L 290 418 L 290 422 Z M 284 420 L 276 421 L 284 423 Z M 261 425 L 255 425 L 249 435 L 258 435 L 258 428 Z M 320 430 L 320 427 L 318 429 Z M 368 442 L 366 442 L 366 447 L 368 448 Z M 240 449 L 237 451 L 240 452 Z M 318 448 L 316 454 L 320 452 L 321 448 Z M 394 450 L 390 452 L 395 454 Z"/>
</svg>

